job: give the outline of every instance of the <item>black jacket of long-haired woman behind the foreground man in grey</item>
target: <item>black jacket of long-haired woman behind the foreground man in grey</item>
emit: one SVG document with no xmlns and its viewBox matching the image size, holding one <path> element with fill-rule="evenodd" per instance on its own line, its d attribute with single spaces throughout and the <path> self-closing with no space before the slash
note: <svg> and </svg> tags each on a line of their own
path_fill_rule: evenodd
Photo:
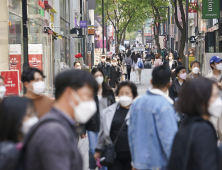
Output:
<svg viewBox="0 0 222 170">
<path fill-rule="evenodd" d="M 115 97 L 113 94 L 109 94 L 107 97 L 107 106 L 112 105 L 115 103 Z M 100 113 L 99 113 L 99 100 L 98 97 L 95 96 L 96 106 L 97 106 L 97 112 L 94 114 L 94 116 L 83 126 L 83 134 L 86 134 L 86 130 L 93 131 L 93 132 L 99 132 L 100 129 Z"/>
</svg>

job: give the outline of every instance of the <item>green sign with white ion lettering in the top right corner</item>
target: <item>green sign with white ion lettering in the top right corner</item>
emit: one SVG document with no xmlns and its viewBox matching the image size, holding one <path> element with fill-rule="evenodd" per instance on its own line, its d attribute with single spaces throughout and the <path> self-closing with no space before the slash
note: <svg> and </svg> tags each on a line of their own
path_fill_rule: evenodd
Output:
<svg viewBox="0 0 222 170">
<path fill-rule="evenodd" d="M 203 19 L 220 18 L 220 0 L 203 0 L 202 7 Z"/>
</svg>

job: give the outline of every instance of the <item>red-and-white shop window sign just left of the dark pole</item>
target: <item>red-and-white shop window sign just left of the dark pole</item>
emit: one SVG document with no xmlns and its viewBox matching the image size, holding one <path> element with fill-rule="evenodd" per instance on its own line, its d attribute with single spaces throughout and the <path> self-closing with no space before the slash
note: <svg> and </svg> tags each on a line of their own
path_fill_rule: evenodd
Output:
<svg viewBox="0 0 222 170">
<path fill-rule="evenodd" d="M 9 45 L 10 70 L 19 71 L 19 79 L 21 79 L 21 44 Z"/>
</svg>

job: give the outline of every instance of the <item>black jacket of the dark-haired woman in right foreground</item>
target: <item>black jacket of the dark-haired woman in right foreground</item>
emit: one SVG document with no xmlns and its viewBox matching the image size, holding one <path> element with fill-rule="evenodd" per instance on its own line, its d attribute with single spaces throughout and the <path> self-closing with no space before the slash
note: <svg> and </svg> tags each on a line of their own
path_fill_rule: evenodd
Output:
<svg viewBox="0 0 222 170">
<path fill-rule="evenodd" d="M 194 124 L 197 124 L 197 128 L 191 139 L 190 148 L 187 148 L 189 135 Z M 168 170 L 183 170 L 187 149 L 190 149 L 187 170 L 220 169 L 217 136 L 209 121 L 199 116 L 185 120 L 174 138 Z"/>
</svg>

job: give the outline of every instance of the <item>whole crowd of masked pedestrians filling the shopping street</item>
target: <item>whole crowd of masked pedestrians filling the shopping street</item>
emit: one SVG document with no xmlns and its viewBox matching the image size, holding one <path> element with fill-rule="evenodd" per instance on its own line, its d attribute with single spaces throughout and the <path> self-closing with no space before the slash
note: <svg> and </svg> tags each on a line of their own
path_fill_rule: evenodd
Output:
<svg viewBox="0 0 222 170">
<path fill-rule="evenodd" d="M 83 170 L 78 142 L 88 137 L 90 170 L 220 170 L 222 59 L 204 78 L 198 61 L 188 74 L 174 55 L 155 56 L 142 96 L 130 81 L 144 69 L 135 52 L 102 55 L 91 73 L 74 63 L 56 76 L 55 99 L 37 68 L 23 71 L 22 97 L 4 97 L 0 77 L 0 169 Z"/>
</svg>

